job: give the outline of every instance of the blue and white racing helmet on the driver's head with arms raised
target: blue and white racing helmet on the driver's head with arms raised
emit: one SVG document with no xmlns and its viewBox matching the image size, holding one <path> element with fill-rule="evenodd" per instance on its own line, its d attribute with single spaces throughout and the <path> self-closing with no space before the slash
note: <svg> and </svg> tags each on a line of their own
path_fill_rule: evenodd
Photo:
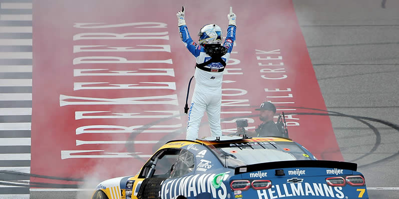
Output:
<svg viewBox="0 0 399 199">
<path fill-rule="evenodd" d="M 216 24 L 206 24 L 198 32 L 200 45 L 222 44 L 222 29 Z"/>
</svg>

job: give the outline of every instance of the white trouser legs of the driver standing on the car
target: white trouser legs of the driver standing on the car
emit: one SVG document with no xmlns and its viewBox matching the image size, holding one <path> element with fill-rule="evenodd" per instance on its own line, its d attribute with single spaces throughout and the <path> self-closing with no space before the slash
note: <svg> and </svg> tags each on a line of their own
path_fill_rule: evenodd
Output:
<svg viewBox="0 0 399 199">
<path fill-rule="evenodd" d="M 220 105 L 222 88 L 205 87 L 196 84 L 188 111 L 187 140 L 198 138 L 198 130 L 205 110 L 208 114 L 212 136 L 221 136 Z"/>
</svg>

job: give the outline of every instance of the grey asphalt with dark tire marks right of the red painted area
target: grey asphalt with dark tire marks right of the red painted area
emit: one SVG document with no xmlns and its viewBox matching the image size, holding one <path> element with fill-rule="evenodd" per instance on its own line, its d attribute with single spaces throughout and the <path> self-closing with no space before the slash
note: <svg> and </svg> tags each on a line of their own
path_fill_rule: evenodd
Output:
<svg viewBox="0 0 399 199">
<path fill-rule="evenodd" d="M 358 164 L 368 188 L 398 188 L 399 2 L 293 2 L 328 110 L 320 117 L 329 115 L 344 160 Z M 399 190 L 368 195 L 398 199 Z M 31 199 L 76 196 L 31 192 Z"/>
</svg>

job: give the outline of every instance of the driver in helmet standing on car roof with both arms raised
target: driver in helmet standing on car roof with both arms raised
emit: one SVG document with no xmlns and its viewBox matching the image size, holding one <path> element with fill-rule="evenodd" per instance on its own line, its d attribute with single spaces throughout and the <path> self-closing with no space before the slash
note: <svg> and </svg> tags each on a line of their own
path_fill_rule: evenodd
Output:
<svg viewBox="0 0 399 199">
<path fill-rule="evenodd" d="M 184 20 L 184 7 L 177 14 L 180 38 L 196 59 L 194 88 L 188 110 L 187 140 L 198 138 L 198 129 L 206 111 L 213 137 L 222 136 L 220 127 L 220 106 L 222 98 L 223 70 L 229 61 L 235 41 L 236 14 L 230 7 L 227 14 L 229 26 L 222 44 L 222 30 L 216 24 L 204 25 L 199 33 L 199 44 L 191 39 Z"/>
</svg>

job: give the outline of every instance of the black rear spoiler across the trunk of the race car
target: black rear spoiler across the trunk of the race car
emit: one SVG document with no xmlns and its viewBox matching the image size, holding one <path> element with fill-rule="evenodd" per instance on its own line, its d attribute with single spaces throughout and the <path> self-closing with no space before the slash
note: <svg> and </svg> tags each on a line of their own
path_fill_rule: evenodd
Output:
<svg viewBox="0 0 399 199">
<path fill-rule="evenodd" d="M 352 171 L 357 170 L 357 164 L 355 163 L 327 161 L 327 160 L 293 160 L 293 161 L 260 163 L 260 164 L 236 167 L 234 175 L 243 174 L 247 172 L 255 172 L 260 170 L 267 170 L 267 169 L 282 169 L 282 168 L 293 168 L 293 167 L 336 168 L 336 169 L 345 169 Z"/>
</svg>

